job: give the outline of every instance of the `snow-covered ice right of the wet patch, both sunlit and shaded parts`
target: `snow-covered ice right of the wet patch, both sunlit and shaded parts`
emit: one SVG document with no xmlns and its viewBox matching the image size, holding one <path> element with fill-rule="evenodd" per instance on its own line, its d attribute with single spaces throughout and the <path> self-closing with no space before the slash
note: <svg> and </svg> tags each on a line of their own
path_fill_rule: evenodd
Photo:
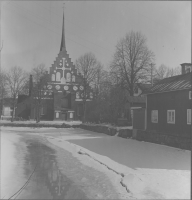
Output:
<svg viewBox="0 0 192 200">
<path fill-rule="evenodd" d="M 190 199 L 190 151 L 74 128 L 14 130 L 33 130 L 84 164 L 87 158 L 106 166 L 133 198 Z"/>
</svg>

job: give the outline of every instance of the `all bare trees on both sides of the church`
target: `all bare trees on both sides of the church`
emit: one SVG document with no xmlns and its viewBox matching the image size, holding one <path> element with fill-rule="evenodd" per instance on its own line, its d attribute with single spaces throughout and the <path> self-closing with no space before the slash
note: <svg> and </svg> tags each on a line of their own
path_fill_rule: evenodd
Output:
<svg viewBox="0 0 192 200">
<path fill-rule="evenodd" d="M 159 80 L 180 74 L 179 68 L 169 68 L 161 65 L 152 67 L 154 53 L 147 46 L 146 37 L 140 32 L 127 33 L 116 45 L 115 53 L 108 68 L 97 60 L 94 54 L 86 53 L 76 60 L 76 68 L 83 76 L 84 97 L 83 97 L 83 121 L 89 118 L 98 121 L 111 118 L 114 121 L 118 117 L 122 105 L 125 104 L 127 96 L 133 96 L 136 83 L 156 83 Z M 46 85 L 46 67 L 40 64 L 30 74 L 33 75 L 33 95 L 36 97 L 33 102 L 38 107 L 36 113 L 37 122 L 39 110 L 42 106 L 43 86 Z M 20 67 L 13 67 L 8 72 L 1 72 L 0 92 L 1 98 L 6 96 L 13 98 L 13 110 L 16 105 L 16 98 L 19 94 L 26 94 L 29 85 L 29 73 Z M 94 92 L 94 100 L 87 107 L 88 93 Z M 87 117 L 86 117 L 87 113 Z"/>
</svg>

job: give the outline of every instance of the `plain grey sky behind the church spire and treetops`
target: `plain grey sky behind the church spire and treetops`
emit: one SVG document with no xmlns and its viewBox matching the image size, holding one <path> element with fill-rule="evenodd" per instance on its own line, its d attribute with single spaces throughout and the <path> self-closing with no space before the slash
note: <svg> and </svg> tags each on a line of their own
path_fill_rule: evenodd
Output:
<svg viewBox="0 0 192 200">
<path fill-rule="evenodd" d="M 2 68 L 51 67 L 59 53 L 62 1 L 1 1 Z M 130 31 L 147 37 L 155 64 L 191 62 L 190 1 L 65 2 L 65 41 L 72 61 L 87 52 L 108 66 L 118 40 Z"/>
</svg>

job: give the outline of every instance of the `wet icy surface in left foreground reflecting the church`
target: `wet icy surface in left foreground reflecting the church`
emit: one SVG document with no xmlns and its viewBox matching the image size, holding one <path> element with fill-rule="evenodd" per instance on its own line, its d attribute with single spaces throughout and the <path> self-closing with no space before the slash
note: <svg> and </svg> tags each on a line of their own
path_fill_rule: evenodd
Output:
<svg viewBox="0 0 192 200">
<path fill-rule="evenodd" d="M 11 173 L 2 180 L 2 199 L 120 198 L 105 173 L 82 164 L 70 152 L 35 134 L 33 129 L 14 131 L 7 128 L 1 136 L 9 142 L 12 140 L 15 160 L 11 164 L 12 169 L 9 169 Z M 17 136 L 17 139 L 13 136 Z M 8 151 L 4 149 L 2 156 L 6 157 Z M 1 165 L 5 165 L 5 162 Z"/>
</svg>

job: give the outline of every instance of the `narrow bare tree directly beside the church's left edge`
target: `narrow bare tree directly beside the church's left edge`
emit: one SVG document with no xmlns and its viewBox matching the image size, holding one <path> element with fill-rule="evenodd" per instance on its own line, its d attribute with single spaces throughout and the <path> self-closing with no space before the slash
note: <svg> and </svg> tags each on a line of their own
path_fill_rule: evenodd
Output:
<svg viewBox="0 0 192 200">
<path fill-rule="evenodd" d="M 47 71 L 45 64 L 39 64 L 37 67 L 32 69 L 34 85 L 32 88 L 32 99 L 35 107 L 35 119 L 36 122 L 40 122 L 40 112 L 44 103 L 45 86 L 47 85 L 48 77 L 46 76 Z"/>
</svg>

